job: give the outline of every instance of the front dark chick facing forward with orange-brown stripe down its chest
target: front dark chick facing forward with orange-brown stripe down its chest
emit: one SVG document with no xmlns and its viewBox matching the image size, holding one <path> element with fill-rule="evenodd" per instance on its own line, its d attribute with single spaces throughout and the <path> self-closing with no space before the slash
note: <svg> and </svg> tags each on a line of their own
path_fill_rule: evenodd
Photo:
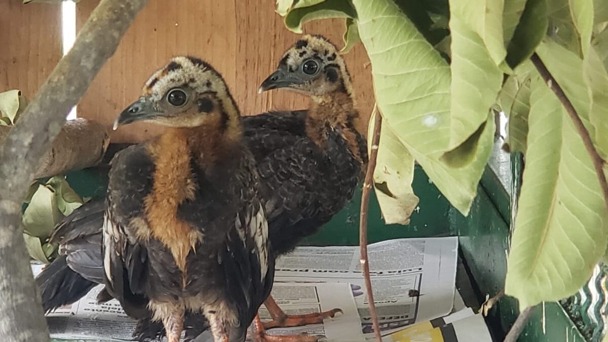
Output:
<svg viewBox="0 0 608 342">
<path fill-rule="evenodd" d="M 150 77 L 118 125 L 167 128 L 112 159 L 103 223 L 109 295 L 161 321 L 178 342 L 186 313 L 215 341 L 241 342 L 268 296 L 274 257 L 255 162 L 226 83 L 198 58 L 175 57 Z"/>
</svg>

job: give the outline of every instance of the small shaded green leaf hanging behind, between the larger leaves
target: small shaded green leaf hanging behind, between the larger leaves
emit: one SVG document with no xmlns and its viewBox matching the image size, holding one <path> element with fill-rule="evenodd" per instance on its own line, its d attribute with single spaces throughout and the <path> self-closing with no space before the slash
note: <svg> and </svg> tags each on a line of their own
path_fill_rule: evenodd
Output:
<svg viewBox="0 0 608 342">
<path fill-rule="evenodd" d="M 499 94 L 500 110 L 509 118 L 506 144 L 511 152 L 525 153 L 528 139 L 528 114 L 530 113 L 530 82 L 540 77 L 530 61 L 515 69 Z"/>
</svg>

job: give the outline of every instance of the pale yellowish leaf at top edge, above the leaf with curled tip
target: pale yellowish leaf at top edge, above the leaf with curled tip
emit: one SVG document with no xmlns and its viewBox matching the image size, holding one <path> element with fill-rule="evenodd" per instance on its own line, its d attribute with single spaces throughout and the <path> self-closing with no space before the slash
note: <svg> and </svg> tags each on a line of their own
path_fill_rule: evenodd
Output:
<svg viewBox="0 0 608 342">
<path fill-rule="evenodd" d="M 461 31 L 466 26 L 481 38 L 494 64 L 500 65 L 506 56 L 502 26 L 503 8 L 504 0 L 450 0 L 450 21 L 454 21 L 454 18 L 460 19 L 455 27 L 450 23 L 452 35 L 455 28 Z M 469 38 L 470 35 L 464 37 Z M 454 40 L 455 37 L 452 37 L 452 49 Z"/>
</svg>

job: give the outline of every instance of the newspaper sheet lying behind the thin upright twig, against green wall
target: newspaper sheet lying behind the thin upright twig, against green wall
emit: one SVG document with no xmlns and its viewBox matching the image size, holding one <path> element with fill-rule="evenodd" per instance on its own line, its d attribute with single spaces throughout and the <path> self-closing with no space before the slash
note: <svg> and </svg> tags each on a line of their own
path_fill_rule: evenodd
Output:
<svg viewBox="0 0 608 342">
<path fill-rule="evenodd" d="M 368 246 L 382 335 L 445 316 L 454 304 L 457 237 L 396 239 Z M 347 282 L 366 337 L 373 335 L 358 246 L 299 247 L 275 265 L 277 282 Z"/>
</svg>

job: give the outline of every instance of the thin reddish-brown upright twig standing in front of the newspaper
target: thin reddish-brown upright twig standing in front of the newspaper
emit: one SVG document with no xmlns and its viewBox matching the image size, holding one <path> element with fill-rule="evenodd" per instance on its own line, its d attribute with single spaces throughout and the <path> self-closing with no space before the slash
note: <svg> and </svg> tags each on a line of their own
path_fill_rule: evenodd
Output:
<svg viewBox="0 0 608 342">
<path fill-rule="evenodd" d="M 376 106 L 374 106 L 374 111 Z M 376 169 L 376 159 L 378 157 L 378 145 L 380 144 L 380 130 L 382 128 L 382 116 L 376 113 L 374 122 L 374 131 L 371 135 L 371 152 L 369 162 L 367 164 L 367 172 L 365 173 L 365 181 L 363 183 L 363 192 L 361 195 L 361 218 L 359 221 L 359 253 L 361 254 L 361 269 L 365 279 L 365 291 L 367 292 L 367 301 L 370 305 L 371 323 L 374 327 L 376 342 L 382 341 L 380 334 L 380 324 L 378 323 L 378 313 L 376 313 L 376 305 L 374 304 L 374 294 L 371 288 L 370 278 L 370 262 L 367 257 L 367 213 L 370 204 L 371 183 L 373 182 L 374 169 Z"/>
</svg>

